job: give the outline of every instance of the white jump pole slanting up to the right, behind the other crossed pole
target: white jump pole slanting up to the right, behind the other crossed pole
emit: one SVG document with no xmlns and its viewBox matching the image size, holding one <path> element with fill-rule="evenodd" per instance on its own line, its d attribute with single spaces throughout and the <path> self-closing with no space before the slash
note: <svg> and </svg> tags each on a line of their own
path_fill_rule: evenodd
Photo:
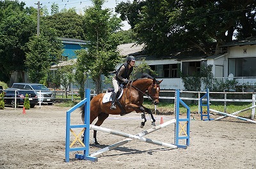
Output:
<svg viewBox="0 0 256 169">
<path fill-rule="evenodd" d="M 156 131 L 157 129 L 164 128 L 164 127 L 166 127 L 170 124 L 173 124 L 175 122 L 176 122 L 176 119 L 172 119 L 171 121 L 164 122 L 163 124 L 160 124 L 160 125 L 156 126 L 155 128 L 150 128 L 150 129 L 147 129 L 146 131 L 142 131 L 141 133 L 138 133 L 136 136 L 148 135 L 149 133 L 152 133 L 152 132 Z M 105 147 L 104 149 L 100 149 L 99 151 L 93 152 L 92 154 L 90 154 L 90 156 L 92 156 L 92 157 L 99 156 L 100 154 L 107 152 L 107 151 L 111 151 L 111 150 L 115 149 L 116 147 L 119 147 L 121 145 L 124 145 L 125 143 L 130 142 L 131 140 L 132 140 L 132 138 L 126 138 L 125 140 L 122 140 L 120 142 L 113 143 L 112 145 L 109 145 L 108 147 Z"/>
</svg>

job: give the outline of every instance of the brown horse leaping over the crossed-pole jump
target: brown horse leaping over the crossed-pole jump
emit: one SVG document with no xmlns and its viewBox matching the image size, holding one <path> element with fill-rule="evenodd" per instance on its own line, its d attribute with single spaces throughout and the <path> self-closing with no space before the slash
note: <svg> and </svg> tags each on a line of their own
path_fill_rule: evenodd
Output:
<svg viewBox="0 0 256 169">
<path fill-rule="evenodd" d="M 141 78 L 128 82 L 124 86 L 122 98 L 118 99 L 122 107 L 117 106 L 115 110 L 110 109 L 111 102 L 102 103 L 102 99 L 106 93 L 97 94 L 97 96 L 94 96 L 90 101 L 90 124 L 92 124 L 97 117 L 98 119 L 97 122 L 95 122 L 95 126 L 100 126 L 104 120 L 108 118 L 109 114 L 120 115 L 122 111 L 125 111 L 125 114 L 129 114 L 132 111 L 135 111 L 136 113 L 142 112 L 141 128 L 143 128 L 143 126 L 145 126 L 145 122 L 147 122 L 145 112 L 150 115 L 149 117 L 152 122 L 152 126 L 156 126 L 156 120 L 154 119 L 151 110 L 142 105 L 144 101 L 143 95 L 152 99 L 152 103 L 157 105 L 159 103 L 159 84 L 161 84 L 162 81 L 163 80 L 156 80 L 156 78 L 152 78 L 150 75 L 143 75 Z M 84 121 L 84 107 L 82 107 L 81 117 Z M 97 142 L 96 135 L 97 131 L 94 130 L 93 142 L 95 144 L 99 144 L 99 142 Z"/>
</svg>

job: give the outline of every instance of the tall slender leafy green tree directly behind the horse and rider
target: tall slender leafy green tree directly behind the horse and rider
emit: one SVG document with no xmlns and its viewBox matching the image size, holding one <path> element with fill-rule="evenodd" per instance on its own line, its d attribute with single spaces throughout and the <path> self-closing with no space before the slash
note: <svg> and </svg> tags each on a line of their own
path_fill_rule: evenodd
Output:
<svg viewBox="0 0 256 169">
<path fill-rule="evenodd" d="M 115 32 L 120 29 L 121 20 L 111 15 L 111 11 L 106 8 L 102 10 L 104 0 L 93 0 L 93 6 L 84 11 L 84 31 L 86 40 L 89 41 L 88 50 L 81 50 L 77 57 L 86 60 L 84 70 L 90 72 L 93 82 L 96 86 L 96 92 L 102 92 L 101 75 L 108 76 L 110 71 L 115 69 L 119 61 L 120 54 L 117 51 L 119 40 Z M 83 73 L 81 73 L 83 74 Z"/>
</svg>

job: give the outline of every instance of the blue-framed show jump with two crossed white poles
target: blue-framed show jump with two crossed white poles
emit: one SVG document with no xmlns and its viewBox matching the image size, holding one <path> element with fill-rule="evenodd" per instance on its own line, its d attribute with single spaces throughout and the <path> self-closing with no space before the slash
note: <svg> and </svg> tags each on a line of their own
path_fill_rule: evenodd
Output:
<svg viewBox="0 0 256 169">
<path fill-rule="evenodd" d="M 89 99 L 86 99 L 89 98 Z M 131 141 L 132 139 L 138 139 L 143 142 L 147 143 L 153 143 L 156 145 L 161 145 L 164 147 L 168 147 L 171 149 L 177 149 L 177 148 L 182 148 L 186 149 L 189 146 L 189 126 L 190 126 L 190 109 L 188 105 L 186 105 L 180 98 L 179 98 L 179 90 L 175 92 L 175 119 L 172 119 L 171 121 L 164 122 L 163 124 L 160 124 L 159 126 L 155 126 L 154 128 L 147 129 L 146 131 L 143 131 L 141 133 L 138 133 L 137 135 L 130 135 L 127 133 L 123 133 L 121 131 L 115 131 L 112 129 L 108 128 L 102 128 L 99 126 L 95 125 L 90 125 L 90 89 L 86 89 L 86 98 L 79 102 L 76 106 L 71 108 L 70 110 L 67 111 L 67 122 L 66 122 L 66 150 L 65 150 L 65 161 L 69 161 L 69 152 L 70 151 L 83 151 L 84 154 L 76 154 L 75 158 L 77 159 L 86 159 L 90 161 L 98 161 L 96 156 L 99 156 L 99 154 L 102 154 L 103 152 L 110 151 L 112 149 L 115 149 L 116 147 L 120 145 L 124 145 L 125 143 Z M 185 108 L 187 108 L 187 117 L 185 119 L 180 119 L 179 117 L 179 104 L 182 104 Z M 84 124 L 82 125 L 73 125 L 70 126 L 70 113 L 76 110 L 76 108 L 81 107 L 81 105 L 85 104 L 86 106 L 85 111 L 86 114 L 84 115 Z M 185 122 L 185 124 L 182 126 L 180 122 Z M 152 140 L 148 138 L 144 138 L 143 136 L 152 133 L 158 129 L 164 128 L 170 124 L 175 124 L 175 144 L 171 143 L 164 143 L 164 142 L 159 142 L 157 140 Z M 74 131 L 72 131 L 71 128 L 83 128 L 82 131 L 79 133 L 79 135 L 76 135 Z M 181 128 L 181 129 L 180 129 Z M 186 128 L 186 129 L 185 129 Z M 109 145 L 108 147 L 105 147 L 104 149 L 101 149 L 97 152 L 94 152 L 93 154 L 89 155 L 89 138 L 90 138 L 90 129 L 95 129 L 98 131 L 102 131 L 105 133 L 109 133 L 112 135 L 118 135 L 118 136 L 123 136 L 126 139 L 122 140 L 120 142 L 114 143 L 113 145 Z M 186 131 L 185 131 L 186 130 Z M 75 140 L 70 144 L 70 132 L 76 136 Z M 84 142 L 81 142 L 80 136 L 81 133 L 84 132 Z M 180 136 L 183 135 L 183 136 Z M 185 135 L 185 136 L 184 136 Z M 186 144 L 185 145 L 180 145 L 179 140 L 185 139 Z M 83 147 L 77 147 L 77 148 L 71 148 L 75 142 L 80 142 Z"/>
</svg>

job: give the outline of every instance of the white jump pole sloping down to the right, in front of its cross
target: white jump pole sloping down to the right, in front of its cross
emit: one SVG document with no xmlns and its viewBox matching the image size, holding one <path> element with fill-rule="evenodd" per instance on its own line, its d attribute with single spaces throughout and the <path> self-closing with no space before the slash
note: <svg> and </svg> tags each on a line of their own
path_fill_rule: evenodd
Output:
<svg viewBox="0 0 256 169">
<path fill-rule="evenodd" d="M 135 139 L 141 140 L 143 142 L 152 143 L 152 144 L 156 144 L 156 145 L 161 145 L 163 147 L 168 147 L 168 148 L 172 148 L 172 149 L 177 149 L 178 148 L 177 145 L 173 145 L 171 143 L 159 142 L 157 140 L 143 138 L 142 136 L 137 136 L 137 135 L 130 135 L 130 134 L 127 134 L 127 133 L 123 133 L 121 131 L 115 131 L 115 130 L 108 129 L 108 128 L 102 128 L 102 127 L 95 126 L 95 125 L 92 125 L 92 124 L 90 125 L 90 129 L 94 129 L 94 130 L 97 130 L 97 131 L 102 131 L 104 133 L 109 133 L 111 135 L 123 136 L 125 138 L 135 138 Z"/>
</svg>

